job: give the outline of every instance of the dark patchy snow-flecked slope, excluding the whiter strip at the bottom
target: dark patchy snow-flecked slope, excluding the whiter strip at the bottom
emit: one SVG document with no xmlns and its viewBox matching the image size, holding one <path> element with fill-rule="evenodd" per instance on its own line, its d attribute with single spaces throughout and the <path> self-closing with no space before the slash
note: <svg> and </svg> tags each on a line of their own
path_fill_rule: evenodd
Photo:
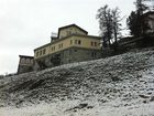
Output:
<svg viewBox="0 0 154 116">
<path fill-rule="evenodd" d="M 79 101 L 66 109 L 76 110 L 94 108 L 85 103 L 94 99 L 113 107 L 153 103 L 153 49 L 0 80 L 1 107 Z"/>
</svg>

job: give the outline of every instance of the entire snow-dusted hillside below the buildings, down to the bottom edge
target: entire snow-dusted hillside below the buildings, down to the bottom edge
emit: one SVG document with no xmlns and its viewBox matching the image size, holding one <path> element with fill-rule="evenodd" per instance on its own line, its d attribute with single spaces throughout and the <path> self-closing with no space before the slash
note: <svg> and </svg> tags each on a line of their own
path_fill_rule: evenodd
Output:
<svg viewBox="0 0 154 116">
<path fill-rule="evenodd" d="M 0 80 L 0 116 L 154 116 L 154 49 Z"/>
</svg>

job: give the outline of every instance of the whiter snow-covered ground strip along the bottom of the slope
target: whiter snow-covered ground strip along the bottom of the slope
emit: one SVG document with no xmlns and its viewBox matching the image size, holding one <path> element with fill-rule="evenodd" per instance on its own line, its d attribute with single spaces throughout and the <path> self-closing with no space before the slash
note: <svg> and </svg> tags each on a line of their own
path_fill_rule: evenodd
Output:
<svg viewBox="0 0 154 116">
<path fill-rule="evenodd" d="M 94 108 L 70 109 L 78 102 L 66 101 L 23 108 L 1 108 L 0 116 L 154 116 L 154 103 L 111 107 L 95 103 Z"/>
</svg>

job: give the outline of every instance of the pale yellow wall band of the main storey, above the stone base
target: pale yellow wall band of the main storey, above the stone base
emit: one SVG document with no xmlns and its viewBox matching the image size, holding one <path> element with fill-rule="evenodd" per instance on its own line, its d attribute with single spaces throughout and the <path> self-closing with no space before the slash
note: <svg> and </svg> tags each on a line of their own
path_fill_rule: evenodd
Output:
<svg viewBox="0 0 154 116">
<path fill-rule="evenodd" d="M 72 40 L 72 44 L 70 44 L 70 40 Z M 79 41 L 80 40 L 80 44 L 76 44 L 75 41 Z M 91 46 L 91 42 L 96 42 L 97 43 L 97 46 Z M 62 46 L 63 44 L 63 48 L 59 48 L 59 44 Z M 100 40 L 97 40 L 97 39 L 91 39 L 91 38 L 86 38 L 86 36 L 77 36 L 77 35 L 74 35 L 74 36 L 69 36 L 65 40 L 62 40 L 59 42 L 56 42 L 56 43 L 51 43 L 48 44 L 47 46 L 44 46 L 42 49 L 38 49 L 35 51 L 34 53 L 34 57 L 35 59 L 38 59 L 38 57 L 43 57 L 47 54 L 52 54 L 52 53 L 55 53 L 55 52 L 59 52 L 62 50 L 65 50 L 65 49 L 68 49 L 70 46 L 78 46 L 78 48 L 84 48 L 84 49 L 92 49 L 92 50 L 100 50 Z M 52 48 L 55 48 L 55 50 L 52 50 Z M 36 52 L 40 52 L 40 51 L 43 51 L 44 49 L 46 49 L 46 53 L 45 54 L 42 54 L 42 55 L 38 55 L 36 56 Z"/>
</svg>

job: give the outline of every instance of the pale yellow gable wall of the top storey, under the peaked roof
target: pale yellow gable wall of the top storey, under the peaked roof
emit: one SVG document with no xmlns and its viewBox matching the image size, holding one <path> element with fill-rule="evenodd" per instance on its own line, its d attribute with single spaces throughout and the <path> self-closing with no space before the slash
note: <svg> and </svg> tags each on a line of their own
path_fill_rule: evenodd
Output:
<svg viewBox="0 0 154 116">
<path fill-rule="evenodd" d="M 62 29 L 59 31 L 59 39 L 68 36 L 70 34 L 79 34 L 79 35 L 86 35 L 85 32 L 82 32 L 81 30 L 79 30 L 76 27 L 70 27 L 70 28 L 66 28 L 66 29 Z"/>
</svg>

